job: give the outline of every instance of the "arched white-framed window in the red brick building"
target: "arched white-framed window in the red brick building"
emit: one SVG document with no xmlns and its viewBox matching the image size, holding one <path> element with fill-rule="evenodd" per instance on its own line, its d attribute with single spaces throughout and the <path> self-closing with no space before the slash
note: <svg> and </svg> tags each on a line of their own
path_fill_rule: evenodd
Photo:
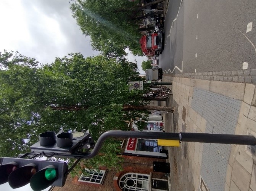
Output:
<svg viewBox="0 0 256 191">
<path fill-rule="evenodd" d="M 149 175 L 137 173 L 124 174 L 120 178 L 119 187 L 122 191 L 148 191 Z"/>
</svg>

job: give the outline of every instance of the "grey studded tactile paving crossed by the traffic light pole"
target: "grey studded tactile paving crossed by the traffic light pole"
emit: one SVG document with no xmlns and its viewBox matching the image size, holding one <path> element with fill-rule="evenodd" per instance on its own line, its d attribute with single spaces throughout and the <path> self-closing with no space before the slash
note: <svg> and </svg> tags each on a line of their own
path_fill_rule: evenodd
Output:
<svg viewBox="0 0 256 191">
<path fill-rule="evenodd" d="M 206 120 L 205 133 L 235 133 L 241 101 L 194 88 L 191 107 Z M 225 189 L 230 150 L 230 144 L 204 143 L 201 176 L 211 191 Z"/>
</svg>

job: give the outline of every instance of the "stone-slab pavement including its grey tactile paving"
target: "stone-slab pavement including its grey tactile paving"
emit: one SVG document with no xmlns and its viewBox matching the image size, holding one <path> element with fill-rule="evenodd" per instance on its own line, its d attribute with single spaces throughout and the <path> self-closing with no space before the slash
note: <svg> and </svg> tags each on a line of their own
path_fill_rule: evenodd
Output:
<svg viewBox="0 0 256 191">
<path fill-rule="evenodd" d="M 162 81 L 172 82 L 173 95 L 161 105 L 175 110 L 163 116 L 166 132 L 256 136 L 254 84 L 168 75 Z M 181 142 L 168 150 L 172 191 L 256 191 L 256 146 Z"/>
</svg>

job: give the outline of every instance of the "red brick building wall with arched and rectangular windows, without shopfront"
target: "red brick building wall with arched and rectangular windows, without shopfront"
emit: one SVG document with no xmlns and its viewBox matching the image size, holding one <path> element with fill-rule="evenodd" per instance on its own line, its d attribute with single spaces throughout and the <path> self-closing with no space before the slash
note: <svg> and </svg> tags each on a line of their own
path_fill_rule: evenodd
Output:
<svg viewBox="0 0 256 191">
<path fill-rule="evenodd" d="M 122 171 L 101 168 L 90 175 L 68 176 L 63 187 L 52 191 L 162 191 L 168 190 L 167 174 L 154 171 L 154 163 L 165 159 L 123 155 Z"/>
</svg>

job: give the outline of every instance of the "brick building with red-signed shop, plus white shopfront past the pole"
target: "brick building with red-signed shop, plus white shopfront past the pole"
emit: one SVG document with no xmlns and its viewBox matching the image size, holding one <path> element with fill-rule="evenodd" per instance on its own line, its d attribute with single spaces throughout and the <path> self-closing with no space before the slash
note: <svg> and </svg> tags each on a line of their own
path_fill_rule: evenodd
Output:
<svg viewBox="0 0 256 191">
<path fill-rule="evenodd" d="M 132 131 L 138 131 L 130 124 Z M 143 131 L 164 131 L 161 116 L 150 115 Z M 52 191 L 167 191 L 169 163 L 168 153 L 155 139 L 127 138 L 121 140 L 122 171 L 101 167 L 100 171 L 88 170 L 87 174 L 68 176 L 63 187 Z M 86 163 L 86 161 L 85 161 Z"/>
</svg>

